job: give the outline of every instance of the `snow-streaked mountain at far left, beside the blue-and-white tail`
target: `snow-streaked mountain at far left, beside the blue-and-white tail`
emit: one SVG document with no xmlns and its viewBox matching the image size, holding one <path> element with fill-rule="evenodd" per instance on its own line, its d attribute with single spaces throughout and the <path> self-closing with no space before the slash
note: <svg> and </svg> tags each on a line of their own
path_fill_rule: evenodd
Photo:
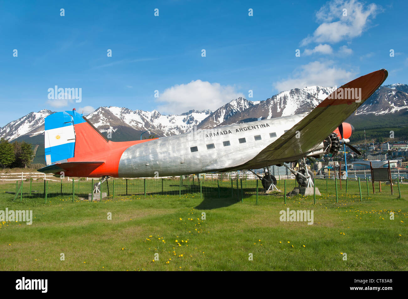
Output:
<svg viewBox="0 0 408 299">
<path fill-rule="evenodd" d="M 53 114 L 51 110 L 43 109 L 31 112 L 16 121 L 12 121 L 0 129 L 0 138 L 13 140 L 23 135 L 35 136 L 44 133 L 44 119 Z"/>
</svg>

